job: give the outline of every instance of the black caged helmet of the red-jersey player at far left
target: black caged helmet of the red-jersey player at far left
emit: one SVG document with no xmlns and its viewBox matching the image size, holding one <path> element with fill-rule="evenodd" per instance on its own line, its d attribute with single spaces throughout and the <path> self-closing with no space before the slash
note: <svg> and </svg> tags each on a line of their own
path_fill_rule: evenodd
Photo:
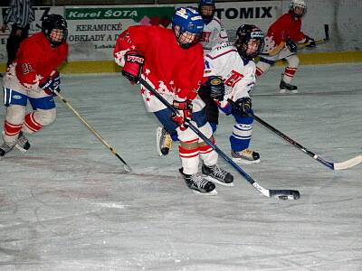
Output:
<svg viewBox="0 0 362 271">
<path fill-rule="evenodd" d="M 60 30 L 61 32 L 56 30 Z M 65 21 L 60 14 L 46 14 L 43 17 L 42 32 L 49 42 L 51 42 L 52 47 L 59 46 L 65 42 L 68 37 L 67 21 Z"/>
</svg>

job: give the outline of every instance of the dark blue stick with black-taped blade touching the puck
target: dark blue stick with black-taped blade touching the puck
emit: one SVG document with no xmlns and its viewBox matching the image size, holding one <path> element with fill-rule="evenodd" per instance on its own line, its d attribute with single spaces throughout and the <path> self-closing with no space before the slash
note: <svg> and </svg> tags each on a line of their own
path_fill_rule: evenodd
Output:
<svg viewBox="0 0 362 271">
<path fill-rule="evenodd" d="M 139 79 L 139 82 L 143 85 L 144 88 L 148 89 L 149 92 L 155 95 L 160 102 L 162 102 L 166 107 L 168 107 L 172 111 L 172 113 L 176 115 L 178 114 L 177 110 L 174 107 L 172 107 L 167 102 L 167 100 L 163 98 L 155 89 L 153 89 L 145 79 L 141 78 Z M 197 127 L 195 127 L 191 123 L 191 121 L 186 120 L 186 122 L 187 126 L 189 126 L 195 132 L 196 135 L 201 137 L 207 145 L 211 146 L 217 154 L 221 155 L 227 163 L 231 164 L 238 173 L 242 174 L 243 178 L 247 182 L 252 184 L 252 186 L 257 191 L 261 192 L 264 196 L 268 198 L 276 198 L 279 200 L 298 200 L 300 198 L 300 192 L 296 190 L 269 190 L 262 188 L 262 186 L 258 182 L 255 182 L 252 179 L 252 177 L 248 175 L 248 173 L 245 173 L 238 164 L 235 164 L 232 159 L 230 159 L 226 154 L 224 154 L 222 150 L 220 150 L 216 145 L 214 145 L 214 143 L 210 139 L 208 139 L 206 135 L 204 135 Z"/>
</svg>

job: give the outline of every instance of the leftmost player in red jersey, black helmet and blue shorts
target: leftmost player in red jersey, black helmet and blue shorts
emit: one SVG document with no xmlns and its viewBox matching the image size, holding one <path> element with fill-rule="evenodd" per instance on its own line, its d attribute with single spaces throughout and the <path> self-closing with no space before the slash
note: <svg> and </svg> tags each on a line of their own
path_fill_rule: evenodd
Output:
<svg viewBox="0 0 362 271">
<path fill-rule="evenodd" d="M 26 152 L 30 144 L 24 134 L 38 132 L 54 121 L 53 91 L 60 91 L 57 68 L 68 55 L 67 35 L 64 18 L 59 14 L 48 14 L 43 18 L 42 32 L 21 43 L 4 78 L 6 116 L 0 156 L 14 146 Z M 26 114 L 28 100 L 33 111 Z"/>
</svg>

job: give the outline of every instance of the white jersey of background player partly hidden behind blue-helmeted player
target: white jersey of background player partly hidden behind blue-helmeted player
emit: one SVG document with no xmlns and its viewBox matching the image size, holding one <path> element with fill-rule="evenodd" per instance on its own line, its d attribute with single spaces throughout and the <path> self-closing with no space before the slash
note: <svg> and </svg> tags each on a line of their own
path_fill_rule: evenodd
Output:
<svg viewBox="0 0 362 271">
<path fill-rule="evenodd" d="M 227 33 L 221 20 L 214 16 L 210 23 L 205 24 L 203 31 L 202 44 L 204 47 L 204 54 L 211 51 L 211 49 L 221 42 L 228 42 Z"/>
</svg>

